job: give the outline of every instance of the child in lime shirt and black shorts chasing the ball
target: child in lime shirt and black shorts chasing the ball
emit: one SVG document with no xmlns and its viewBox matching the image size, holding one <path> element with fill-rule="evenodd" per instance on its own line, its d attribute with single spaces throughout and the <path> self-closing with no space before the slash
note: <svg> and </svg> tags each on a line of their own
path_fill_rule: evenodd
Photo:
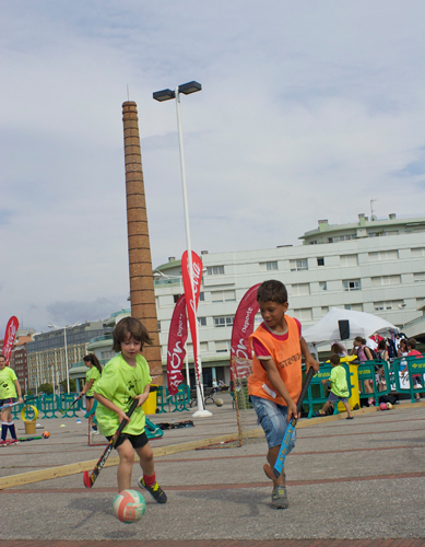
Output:
<svg viewBox="0 0 425 547">
<path fill-rule="evenodd" d="M 143 470 L 138 482 L 140 488 L 147 490 L 157 503 L 165 503 L 167 497 L 156 481 L 153 453 L 144 431 L 142 405 L 149 397 L 152 381 L 147 361 L 139 353 L 145 344 L 152 344 L 152 339 L 139 319 L 125 317 L 116 325 L 114 351 L 120 353 L 105 365 L 96 383 L 94 397 L 99 403 L 96 418 L 101 433 L 108 440 L 122 420 L 128 421 L 115 445 L 119 455 L 118 491 L 131 488 L 135 451 Z M 138 399 L 139 405 L 129 419 L 126 411 L 133 399 Z"/>
</svg>

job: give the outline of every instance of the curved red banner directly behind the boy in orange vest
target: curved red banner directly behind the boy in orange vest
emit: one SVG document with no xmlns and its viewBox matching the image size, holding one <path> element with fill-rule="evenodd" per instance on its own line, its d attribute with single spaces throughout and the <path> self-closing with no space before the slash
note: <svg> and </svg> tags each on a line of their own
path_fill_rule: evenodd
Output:
<svg viewBox="0 0 425 547">
<path fill-rule="evenodd" d="M 232 329 L 231 360 L 233 358 L 252 359 L 248 338 L 253 331 L 253 318 L 259 310 L 257 291 L 261 283 L 251 287 L 236 310 Z"/>
</svg>

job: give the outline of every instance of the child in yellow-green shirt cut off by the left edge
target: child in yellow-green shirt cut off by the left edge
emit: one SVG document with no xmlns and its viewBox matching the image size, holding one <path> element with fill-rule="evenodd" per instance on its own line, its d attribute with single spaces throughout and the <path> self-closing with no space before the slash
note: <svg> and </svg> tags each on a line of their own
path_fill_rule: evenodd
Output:
<svg viewBox="0 0 425 547">
<path fill-rule="evenodd" d="M 21 385 L 17 382 L 16 374 L 13 369 L 7 366 L 5 357 L 0 354 L 0 407 L 11 405 L 12 403 L 23 403 Z M 8 429 L 12 437 L 11 441 L 7 441 Z M 0 446 L 9 446 L 17 444 L 15 424 L 13 423 L 11 408 L 3 408 L 1 411 L 1 441 Z"/>
</svg>

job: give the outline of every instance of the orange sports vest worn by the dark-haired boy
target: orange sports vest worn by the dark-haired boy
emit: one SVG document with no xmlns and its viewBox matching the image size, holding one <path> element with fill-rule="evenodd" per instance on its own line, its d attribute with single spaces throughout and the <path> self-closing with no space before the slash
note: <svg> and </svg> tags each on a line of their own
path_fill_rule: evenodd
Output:
<svg viewBox="0 0 425 547">
<path fill-rule="evenodd" d="M 286 340 L 278 340 L 261 325 L 252 333 L 249 340 L 256 338 L 269 350 L 291 398 L 297 403 L 303 382 L 299 330 L 293 317 L 285 315 L 285 319 L 288 328 Z M 287 406 L 285 399 L 276 393 L 265 369 L 256 354 L 252 357 L 252 374 L 248 379 L 248 394 L 273 400 L 278 405 Z"/>
</svg>

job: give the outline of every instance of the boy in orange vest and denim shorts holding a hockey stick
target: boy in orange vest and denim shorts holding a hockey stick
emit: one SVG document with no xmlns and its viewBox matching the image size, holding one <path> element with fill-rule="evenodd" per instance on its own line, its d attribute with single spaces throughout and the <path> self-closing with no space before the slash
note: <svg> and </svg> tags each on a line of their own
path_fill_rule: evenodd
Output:
<svg viewBox="0 0 425 547">
<path fill-rule="evenodd" d="M 287 291 L 281 281 L 264 281 L 258 289 L 257 302 L 263 323 L 249 337 L 252 374 L 248 379 L 248 394 L 268 442 L 269 463 L 264 464 L 264 472 L 273 480 L 271 507 L 286 509 L 288 501 L 284 470 L 276 479 L 272 468 L 287 424 L 296 415 L 296 403 L 302 391 L 302 356 L 306 360 L 307 371 L 312 366 L 317 372 L 319 363 L 302 337 L 300 323 L 285 315 Z M 294 445 L 295 435 L 291 450 Z"/>
</svg>

